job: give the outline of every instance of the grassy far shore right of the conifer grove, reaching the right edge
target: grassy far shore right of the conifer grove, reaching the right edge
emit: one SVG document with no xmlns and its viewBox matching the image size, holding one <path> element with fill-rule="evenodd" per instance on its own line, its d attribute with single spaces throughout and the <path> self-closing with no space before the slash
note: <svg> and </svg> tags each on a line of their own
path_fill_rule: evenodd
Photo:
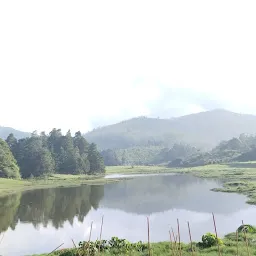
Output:
<svg viewBox="0 0 256 256">
<path fill-rule="evenodd" d="M 191 174 L 198 178 L 210 178 L 223 181 L 221 188 L 212 188 L 214 192 L 237 193 L 247 196 L 246 203 L 256 205 L 256 162 L 234 162 L 212 164 L 197 167 L 169 168 L 164 166 L 112 166 L 107 174 L 149 174 L 175 173 Z"/>
</svg>

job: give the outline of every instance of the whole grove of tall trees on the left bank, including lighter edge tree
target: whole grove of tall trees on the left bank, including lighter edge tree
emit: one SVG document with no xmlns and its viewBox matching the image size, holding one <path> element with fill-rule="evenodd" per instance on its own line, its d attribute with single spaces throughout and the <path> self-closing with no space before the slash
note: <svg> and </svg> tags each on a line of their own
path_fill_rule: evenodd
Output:
<svg viewBox="0 0 256 256">
<path fill-rule="evenodd" d="M 0 139 L 0 177 L 30 178 L 52 173 L 94 174 L 105 171 L 96 144 L 88 143 L 81 132 L 72 137 L 53 129 L 49 135 L 32 133 L 17 139 L 11 133 Z"/>
</svg>

